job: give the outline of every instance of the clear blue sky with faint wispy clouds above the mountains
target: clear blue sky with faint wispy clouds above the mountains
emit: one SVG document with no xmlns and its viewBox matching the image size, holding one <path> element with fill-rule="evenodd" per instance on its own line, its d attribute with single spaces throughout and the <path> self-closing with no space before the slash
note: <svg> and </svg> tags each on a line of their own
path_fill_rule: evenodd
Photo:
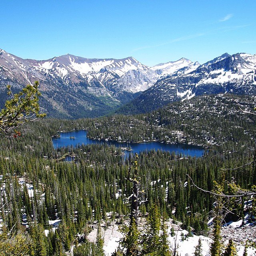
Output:
<svg viewBox="0 0 256 256">
<path fill-rule="evenodd" d="M 21 58 L 133 56 L 143 64 L 256 54 L 255 0 L 3 0 L 0 48 Z"/>
</svg>

